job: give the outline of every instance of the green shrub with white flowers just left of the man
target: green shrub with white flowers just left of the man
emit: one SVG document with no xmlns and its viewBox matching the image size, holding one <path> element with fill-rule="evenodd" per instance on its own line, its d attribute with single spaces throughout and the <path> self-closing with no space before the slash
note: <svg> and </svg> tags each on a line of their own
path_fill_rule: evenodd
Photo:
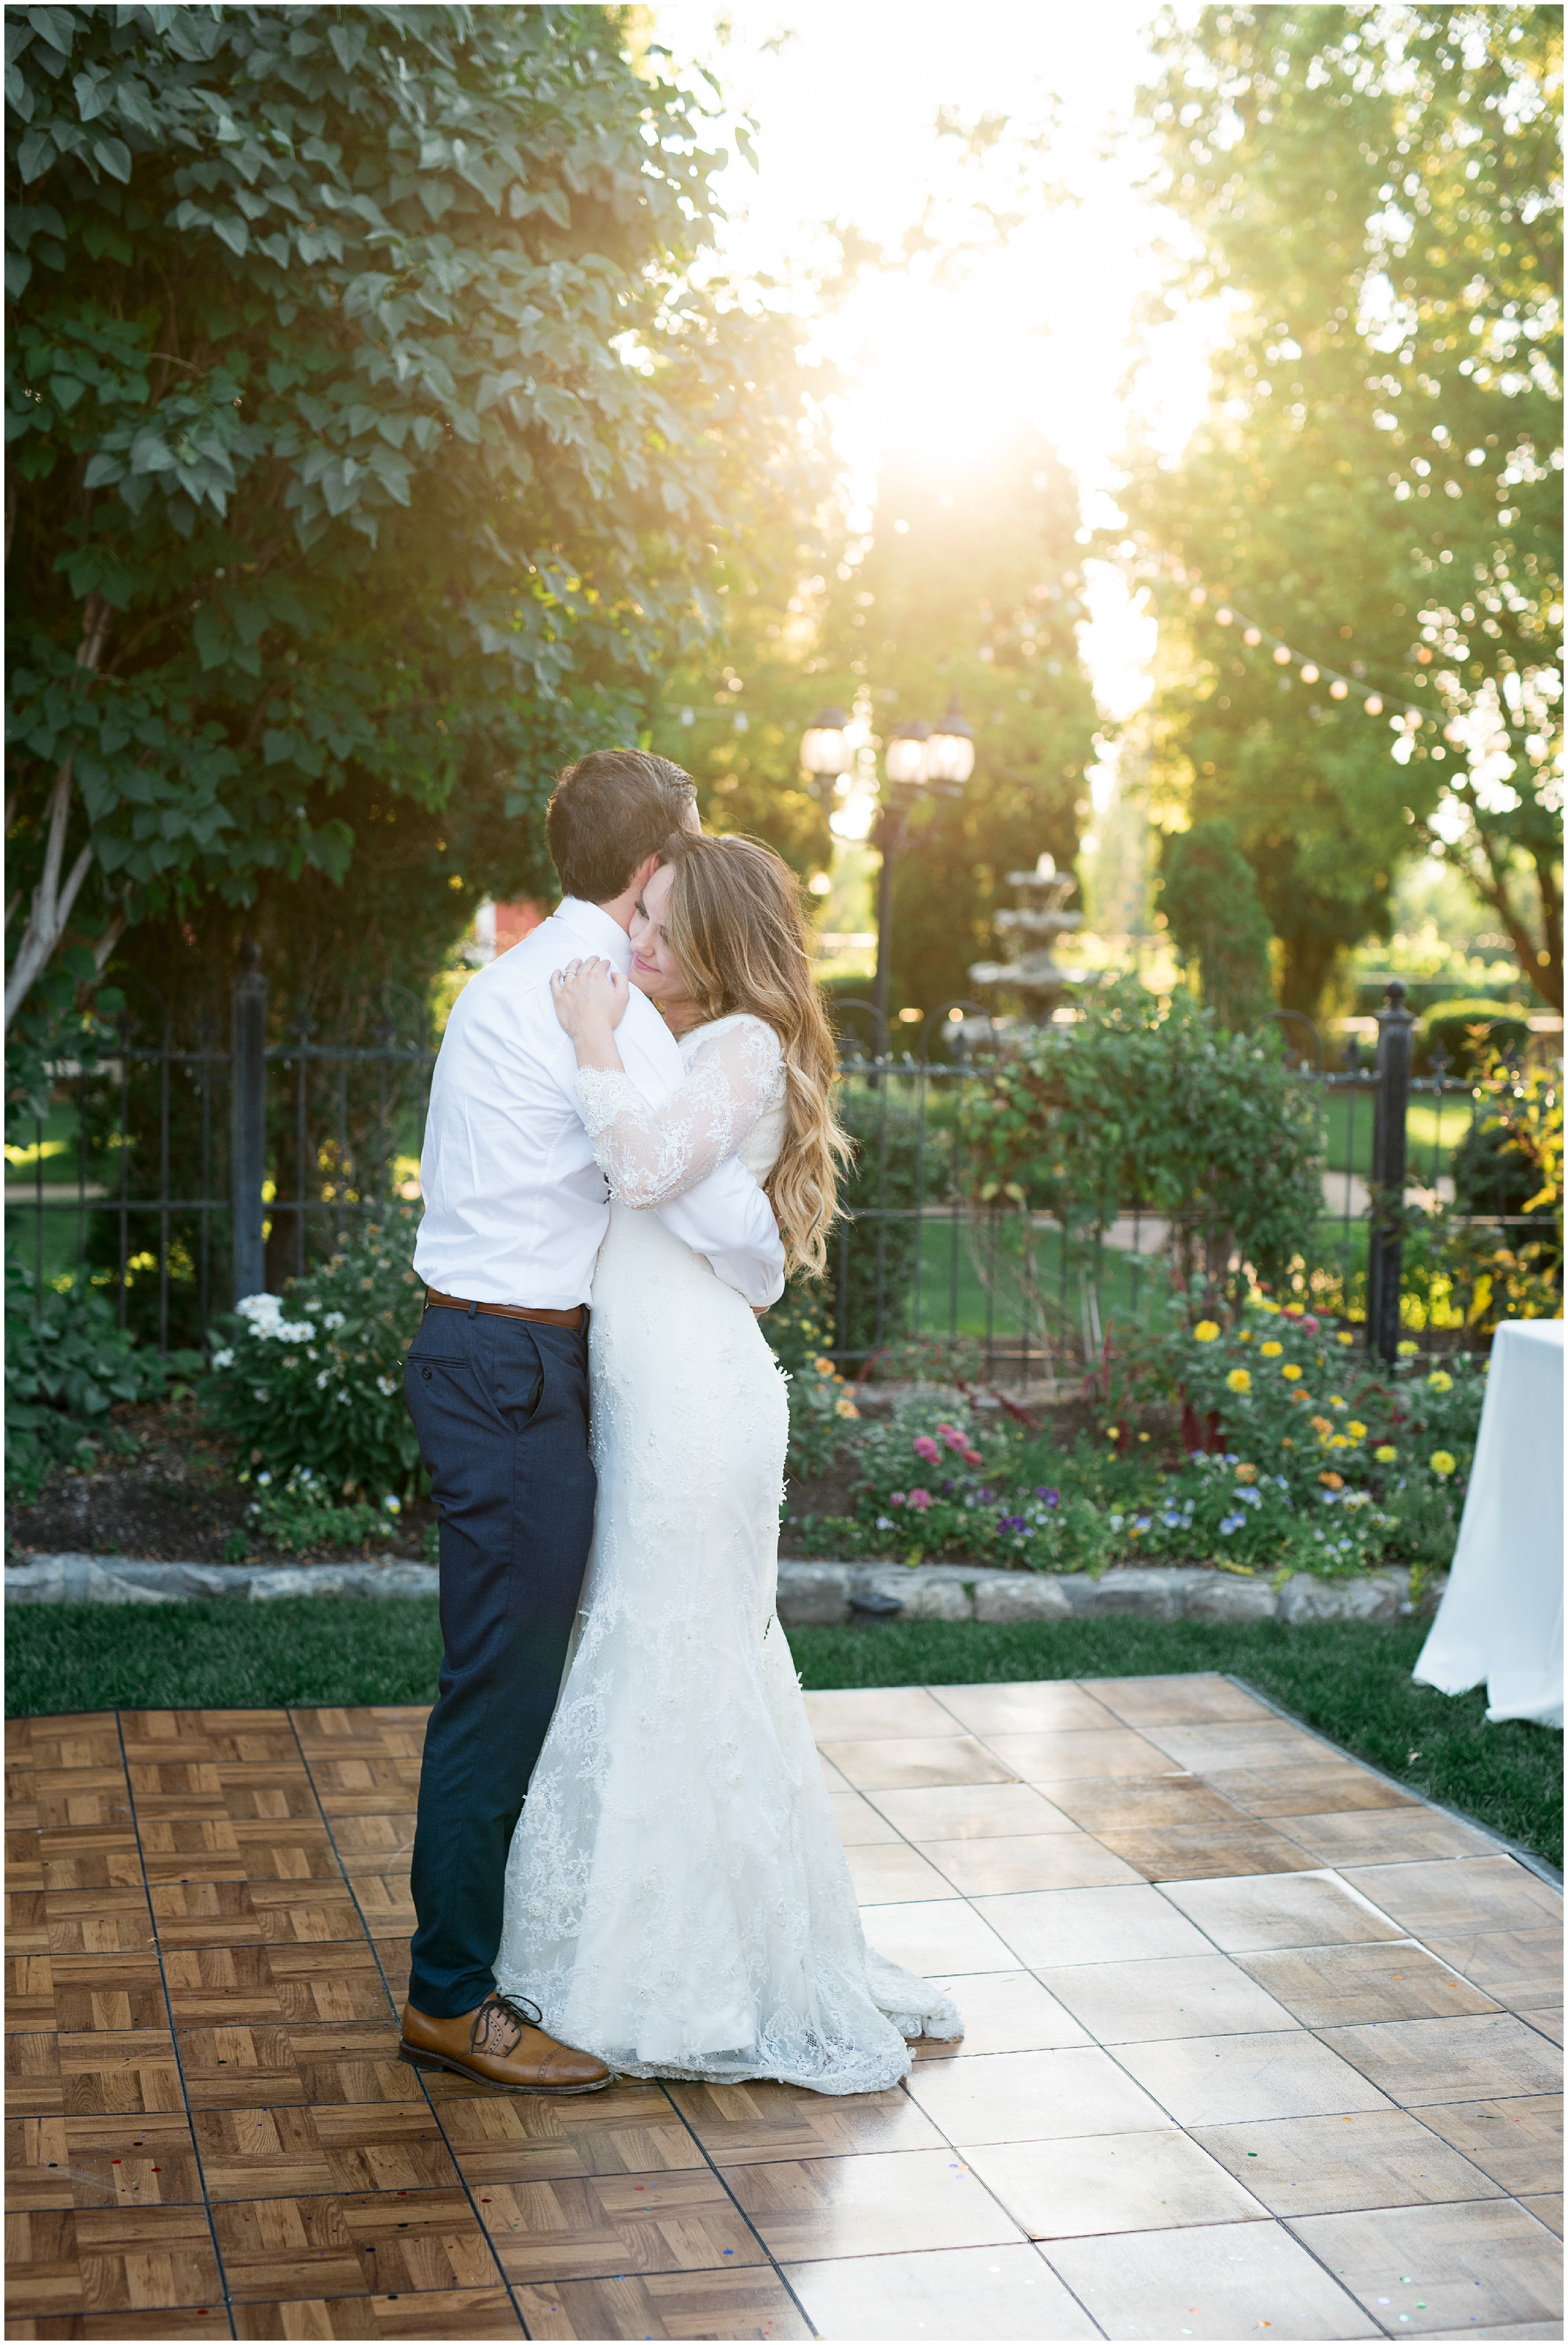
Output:
<svg viewBox="0 0 1568 2345">
<path fill-rule="evenodd" d="M 319 1271 L 251 1294 L 225 1320 L 204 1407 L 251 1466 L 312 1475 L 354 1496 L 408 1494 L 420 1442 L 403 1402 L 403 1353 L 420 1325 L 410 1271 L 417 1217 L 398 1208 L 354 1231 Z"/>
</svg>

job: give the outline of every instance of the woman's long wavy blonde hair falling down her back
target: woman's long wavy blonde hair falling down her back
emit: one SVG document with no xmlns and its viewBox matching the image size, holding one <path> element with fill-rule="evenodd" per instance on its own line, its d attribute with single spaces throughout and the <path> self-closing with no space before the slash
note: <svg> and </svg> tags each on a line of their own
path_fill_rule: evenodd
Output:
<svg viewBox="0 0 1568 2345">
<path fill-rule="evenodd" d="M 673 865 L 663 931 L 703 1018 L 748 1011 L 778 1034 L 788 1130 L 764 1189 L 788 1269 L 820 1278 L 848 1140 L 832 1107 L 839 1055 L 811 978 L 795 875 L 762 840 L 684 830 L 659 861 Z"/>
</svg>

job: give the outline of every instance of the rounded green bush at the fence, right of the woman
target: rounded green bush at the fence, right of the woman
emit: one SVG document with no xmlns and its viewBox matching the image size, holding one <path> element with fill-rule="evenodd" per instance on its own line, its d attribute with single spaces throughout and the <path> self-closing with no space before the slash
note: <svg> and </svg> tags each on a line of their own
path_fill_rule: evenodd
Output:
<svg viewBox="0 0 1568 2345">
<path fill-rule="evenodd" d="M 1317 1109 L 1277 1039 L 1223 1034 L 1188 994 L 1123 978 L 1076 1025 L 1024 1032 L 963 1102 L 975 1205 L 1050 1212 L 1069 1243 L 1139 1205 L 1172 1222 L 1184 1283 L 1277 1276 L 1322 1208 Z M 1233 1269 L 1240 1257 L 1240 1269 Z"/>
</svg>

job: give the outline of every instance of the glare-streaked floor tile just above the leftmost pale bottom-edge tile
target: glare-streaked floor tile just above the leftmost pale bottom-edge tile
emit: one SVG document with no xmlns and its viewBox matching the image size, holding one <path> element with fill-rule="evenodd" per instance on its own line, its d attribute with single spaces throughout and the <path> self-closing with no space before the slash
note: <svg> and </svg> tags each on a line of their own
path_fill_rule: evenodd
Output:
<svg viewBox="0 0 1568 2345">
<path fill-rule="evenodd" d="M 722 2171 L 780 2263 L 1008 2247 L 1020 2237 L 968 2160 L 949 2148 Z"/>
</svg>

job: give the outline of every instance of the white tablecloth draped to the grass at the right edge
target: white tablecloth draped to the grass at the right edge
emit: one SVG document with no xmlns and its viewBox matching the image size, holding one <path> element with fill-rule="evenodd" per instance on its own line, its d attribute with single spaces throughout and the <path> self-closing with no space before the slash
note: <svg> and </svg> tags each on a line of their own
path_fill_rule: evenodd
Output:
<svg viewBox="0 0 1568 2345">
<path fill-rule="evenodd" d="M 1453 1576 L 1413 1677 L 1563 1724 L 1563 1323 L 1498 1327 Z"/>
</svg>

